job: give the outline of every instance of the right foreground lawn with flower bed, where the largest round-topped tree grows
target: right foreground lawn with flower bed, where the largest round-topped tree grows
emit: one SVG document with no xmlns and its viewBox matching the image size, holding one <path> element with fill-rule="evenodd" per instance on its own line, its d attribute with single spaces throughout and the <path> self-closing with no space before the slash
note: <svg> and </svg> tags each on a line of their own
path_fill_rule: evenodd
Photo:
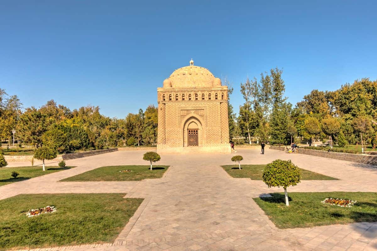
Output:
<svg viewBox="0 0 377 251">
<path fill-rule="evenodd" d="M 282 189 L 283 190 L 283 189 Z M 278 228 L 313 227 L 353 222 L 377 221 L 377 193 L 321 192 L 289 193 L 289 207 L 283 193 L 272 198 L 254 198 Z M 357 203 L 349 208 L 323 204 L 325 198 L 351 199 Z"/>
</svg>

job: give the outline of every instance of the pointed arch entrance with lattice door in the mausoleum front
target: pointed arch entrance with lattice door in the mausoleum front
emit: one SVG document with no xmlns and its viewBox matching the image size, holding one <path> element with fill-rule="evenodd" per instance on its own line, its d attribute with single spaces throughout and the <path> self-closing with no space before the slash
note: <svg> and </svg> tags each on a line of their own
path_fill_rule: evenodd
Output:
<svg viewBox="0 0 377 251">
<path fill-rule="evenodd" d="M 184 120 L 182 139 L 184 147 L 195 147 L 203 145 L 203 127 L 200 118 L 197 116 L 188 116 Z"/>
</svg>

